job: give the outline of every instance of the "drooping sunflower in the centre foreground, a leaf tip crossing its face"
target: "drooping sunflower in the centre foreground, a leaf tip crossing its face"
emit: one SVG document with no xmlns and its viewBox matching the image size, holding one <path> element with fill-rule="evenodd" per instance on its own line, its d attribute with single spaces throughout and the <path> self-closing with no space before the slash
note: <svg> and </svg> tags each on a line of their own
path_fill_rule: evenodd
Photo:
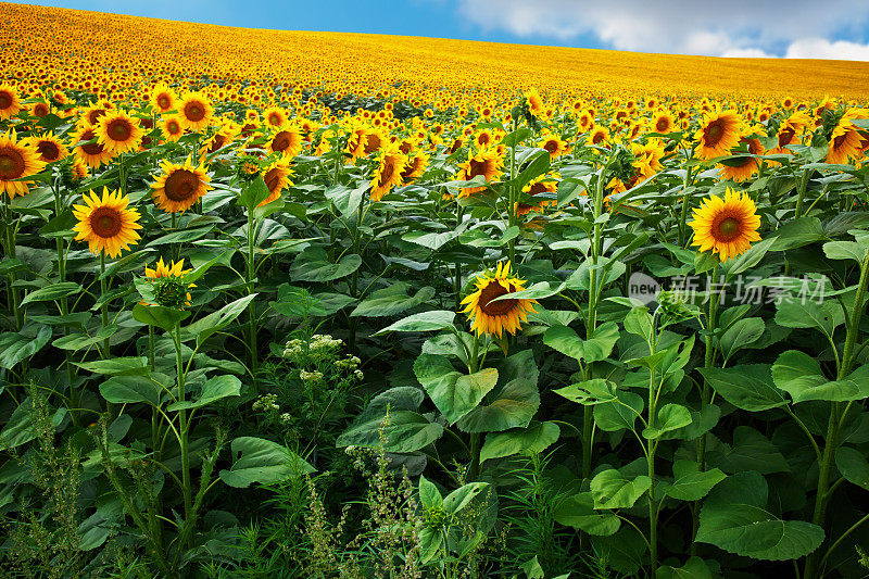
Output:
<svg viewBox="0 0 869 579">
<path fill-rule="evenodd" d="M 481 333 L 494 335 L 501 338 L 504 330 L 516 333 L 522 322 L 528 322 L 528 314 L 534 312 L 533 304 L 537 300 L 504 299 L 492 302 L 495 298 L 516 293 L 525 289 L 525 280 L 511 277 L 509 262 L 498 264 L 494 274 L 483 272 L 475 281 L 476 291 L 462 300 L 465 309 L 462 313 L 473 319 L 471 330 Z"/>
</svg>

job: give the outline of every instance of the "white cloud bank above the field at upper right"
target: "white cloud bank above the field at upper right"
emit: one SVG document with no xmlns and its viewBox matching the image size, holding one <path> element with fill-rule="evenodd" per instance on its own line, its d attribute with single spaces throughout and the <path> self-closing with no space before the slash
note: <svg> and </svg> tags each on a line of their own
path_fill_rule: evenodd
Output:
<svg viewBox="0 0 869 579">
<path fill-rule="evenodd" d="M 558 42 L 592 37 L 618 50 L 743 58 L 774 56 L 791 47 L 788 54 L 793 49 L 867 60 L 862 45 L 822 40 L 860 32 L 869 23 L 866 0 L 828 0 L 822 9 L 814 0 L 786 5 L 780 0 L 457 1 L 466 21 L 520 37 Z"/>
</svg>

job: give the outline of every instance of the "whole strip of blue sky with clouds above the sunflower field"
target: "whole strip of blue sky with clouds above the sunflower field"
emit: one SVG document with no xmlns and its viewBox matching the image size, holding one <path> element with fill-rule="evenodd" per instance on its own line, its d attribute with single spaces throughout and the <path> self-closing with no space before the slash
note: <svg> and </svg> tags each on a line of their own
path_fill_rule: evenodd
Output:
<svg viewBox="0 0 869 579">
<path fill-rule="evenodd" d="M 869 61 L 869 0 L 30 0 L 286 30 L 462 38 L 713 56 Z"/>
</svg>

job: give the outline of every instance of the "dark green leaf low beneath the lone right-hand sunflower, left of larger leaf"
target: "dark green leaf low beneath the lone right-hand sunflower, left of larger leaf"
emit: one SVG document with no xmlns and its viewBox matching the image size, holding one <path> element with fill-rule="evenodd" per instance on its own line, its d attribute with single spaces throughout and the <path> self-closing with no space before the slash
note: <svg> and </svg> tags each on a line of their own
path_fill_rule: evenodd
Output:
<svg viewBox="0 0 869 579">
<path fill-rule="evenodd" d="M 759 412 L 784 406 L 788 401 L 772 383 L 768 364 L 743 364 L 731 368 L 698 368 L 725 400 L 744 411 Z"/>
</svg>

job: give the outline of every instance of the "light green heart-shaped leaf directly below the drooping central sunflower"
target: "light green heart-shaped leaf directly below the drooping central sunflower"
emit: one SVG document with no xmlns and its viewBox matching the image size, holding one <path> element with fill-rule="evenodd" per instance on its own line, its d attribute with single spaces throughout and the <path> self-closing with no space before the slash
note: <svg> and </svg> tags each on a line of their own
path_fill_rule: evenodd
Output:
<svg viewBox="0 0 869 579">
<path fill-rule="evenodd" d="M 456 372 L 448 358 L 436 354 L 420 354 L 414 363 L 414 374 L 450 425 L 477 407 L 498 383 L 494 368 L 466 375 Z"/>
</svg>

